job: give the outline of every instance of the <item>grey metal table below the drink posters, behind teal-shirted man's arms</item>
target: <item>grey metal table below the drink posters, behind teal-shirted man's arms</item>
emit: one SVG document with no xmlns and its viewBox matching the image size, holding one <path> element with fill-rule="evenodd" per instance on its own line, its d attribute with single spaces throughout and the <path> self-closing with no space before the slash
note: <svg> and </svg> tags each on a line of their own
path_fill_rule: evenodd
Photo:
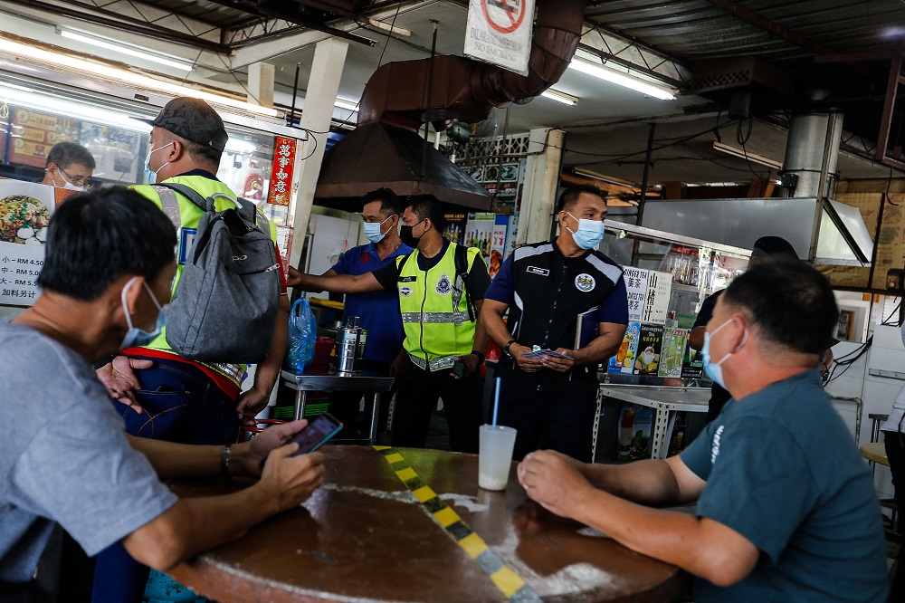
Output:
<svg viewBox="0 0 905 603">
<path fill-rule="evenodd" d="M 653 408 L 651 458 L 666 457 L 669 447 L 666 432 L 676 411 L 706 413 L 710 406 L 710 388 L 626 387 L 602 383 L 600 391 L 604 397 Z"/>
</svg>

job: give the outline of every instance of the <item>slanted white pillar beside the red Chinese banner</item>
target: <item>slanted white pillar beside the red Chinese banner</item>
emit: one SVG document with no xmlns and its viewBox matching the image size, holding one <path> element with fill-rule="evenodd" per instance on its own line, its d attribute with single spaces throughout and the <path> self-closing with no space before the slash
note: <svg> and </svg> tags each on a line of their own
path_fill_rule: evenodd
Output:
<svg viewBox="0 0 905 603">
<path fill-rule="evenodd" d="M 333 117 L 333 103 L 337 100 L 339 78 L 346 62 L 348 42 L 329 38 L 314 48 L 314 61 L 305 92 L 305 104 L 301 111 L 299 125 L 310 132 L 327 132 Z M 314 189 L 318 186 L 320 165 L 327 148 L 327 134 L 310 133 L 308 141 L 300 149 L 304 161 L 296 162 L 295 181 L 298 190 L 290 207 L 292 237 L 290 263 L 300 265 L 301 248 L 305 244 L 311 205 L 314 203 Z"/>
</svg>

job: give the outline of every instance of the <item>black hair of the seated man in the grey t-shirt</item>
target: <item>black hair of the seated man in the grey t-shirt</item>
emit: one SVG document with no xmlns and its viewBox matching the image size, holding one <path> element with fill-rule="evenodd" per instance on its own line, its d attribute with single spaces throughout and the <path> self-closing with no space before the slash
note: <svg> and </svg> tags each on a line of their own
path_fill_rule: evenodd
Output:
<svg viewBox="0 0 905 603">
<path fill-rule="evenodd" d="M 173 262 L 176 228 L 126 187 L 66 199 L 51 216 L 39 287 L 92 302 L 123 274 L 148 280 Z"/>
</svg>

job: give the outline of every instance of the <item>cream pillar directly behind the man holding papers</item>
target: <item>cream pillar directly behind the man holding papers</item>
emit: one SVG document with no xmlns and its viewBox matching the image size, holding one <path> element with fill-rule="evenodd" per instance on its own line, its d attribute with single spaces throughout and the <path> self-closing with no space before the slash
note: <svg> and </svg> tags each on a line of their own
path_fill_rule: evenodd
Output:
<svg viewBox="0 0 905 603">
<path fill-rule="evenodd" d="M 521 193 L 516 244 L 550 239 L 566 132 L 561 129 L 532 129 L 530 136 L 534 140 L 544 134 L 546 144 L 543 151 L 529 155 L 525 164 L 525 188 Z"/>
</svg>

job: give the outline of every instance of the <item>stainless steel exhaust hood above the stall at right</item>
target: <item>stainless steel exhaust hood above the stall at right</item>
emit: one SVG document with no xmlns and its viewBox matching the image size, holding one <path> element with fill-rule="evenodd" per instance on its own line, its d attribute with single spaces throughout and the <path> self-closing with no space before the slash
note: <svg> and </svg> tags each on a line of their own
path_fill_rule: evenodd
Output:
<svg viewBox="0 0 905 603">
<path fill-rule="evenodd" d="M 641 225 L 744 249 L 761 236 L 781 236 L 815 264 L 869 266 L 873 257 L 861 211 L 832 199 L 649 200 Z"/>
</svg>

